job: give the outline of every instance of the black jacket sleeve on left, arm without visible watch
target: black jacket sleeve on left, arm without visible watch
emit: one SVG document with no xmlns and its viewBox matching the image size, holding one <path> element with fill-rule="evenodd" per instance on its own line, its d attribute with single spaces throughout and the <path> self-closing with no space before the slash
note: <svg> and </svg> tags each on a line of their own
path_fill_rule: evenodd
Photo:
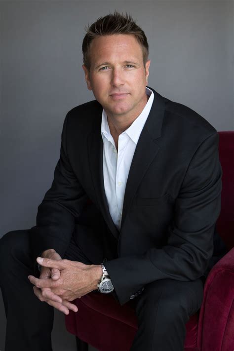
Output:
<svg viewBox="0 0 234 351">
<path fill-rule="evenodd" d="M 38 208 L 37 225 L 31 229 L 33 259 L 46 249 L 54 249 L 61 257 L 69 245 L 75 218 L 80 215 L 87 196 L 73 172 L 66 148 L 67 114 L 62 131 L 60 158 L 51 188 Z"/>
</svg>

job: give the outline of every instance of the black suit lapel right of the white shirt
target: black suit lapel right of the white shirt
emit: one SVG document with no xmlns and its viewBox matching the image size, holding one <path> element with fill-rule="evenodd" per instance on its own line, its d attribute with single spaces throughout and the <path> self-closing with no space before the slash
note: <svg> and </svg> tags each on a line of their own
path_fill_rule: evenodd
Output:
<svg viewBox="0 0 234 351">
<path fill-rule="evenodd" d="M 150 89 L 153 90 L 152 88 Z M 155 90 L 153 90 L 153 92 L 155 95 L 154 102 L 138 140 L 127 178 L 123 201 L 121 229 L 124 225 L 126 214 L 137 188 L 159 150 L 159 147 L 156 144 L 156 139 L 161 136 L 165 103 L 161 95 L 157 94 Z"/>
</svg>

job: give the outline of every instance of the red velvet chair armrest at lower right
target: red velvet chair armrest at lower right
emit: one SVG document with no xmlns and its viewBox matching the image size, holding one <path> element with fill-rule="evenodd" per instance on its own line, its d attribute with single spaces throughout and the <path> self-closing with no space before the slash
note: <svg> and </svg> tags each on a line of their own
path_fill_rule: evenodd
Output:
<svg viewBox="0 0 234 351">
<path fill-rule="evenodd" d="M 211 269 L 204 285 L 197 343 L 201 351 L 234 350 L 234 248 Z"/>
</svg>

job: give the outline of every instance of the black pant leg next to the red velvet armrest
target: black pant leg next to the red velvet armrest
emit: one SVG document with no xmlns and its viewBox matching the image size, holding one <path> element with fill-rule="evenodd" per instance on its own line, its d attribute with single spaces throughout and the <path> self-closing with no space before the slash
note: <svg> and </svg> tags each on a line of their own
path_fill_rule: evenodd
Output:
<svg viewBox="0 0 234 351">
<path fill-rule="evenodd" d="M 186 323 L 202 303 L 203 282 L 161 279 L 136 298 L 138 331 L 131 351 L 184 351 Z"/>
</svg>

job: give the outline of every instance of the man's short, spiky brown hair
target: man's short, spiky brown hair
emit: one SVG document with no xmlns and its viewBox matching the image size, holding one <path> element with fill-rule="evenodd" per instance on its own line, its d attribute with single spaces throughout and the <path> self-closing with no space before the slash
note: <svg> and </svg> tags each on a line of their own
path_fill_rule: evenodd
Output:
<svg viewBox="0 0 234 351">
<path fill-rule="evenodd" d="M 132 34 L 142 47 L 144 66 L 149 56 L 149 45 L 144 31 L 135 23 L 129 14 L 115 11 L 104 17 L 99 17 L 96 22 L 86 28 L 86 35 L 82 43 L 83 63 L 90 70 L 89 50 L 92 40 L 98 36 L 113 34 Z"/>
</svg>

